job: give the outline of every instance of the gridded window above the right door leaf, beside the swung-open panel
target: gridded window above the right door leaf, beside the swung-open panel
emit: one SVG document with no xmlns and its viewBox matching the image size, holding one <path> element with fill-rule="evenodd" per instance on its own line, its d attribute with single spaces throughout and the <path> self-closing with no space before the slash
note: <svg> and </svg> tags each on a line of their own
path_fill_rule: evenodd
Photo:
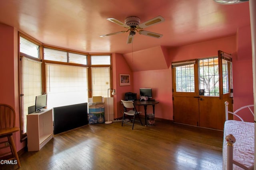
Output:
<svg viewBox="0 0 256 170">
<path fill-rule="evenodd" d="M 204 96 L 220 96 L 218 57 L 199 59 L 199 85 Z"/>
</svg>

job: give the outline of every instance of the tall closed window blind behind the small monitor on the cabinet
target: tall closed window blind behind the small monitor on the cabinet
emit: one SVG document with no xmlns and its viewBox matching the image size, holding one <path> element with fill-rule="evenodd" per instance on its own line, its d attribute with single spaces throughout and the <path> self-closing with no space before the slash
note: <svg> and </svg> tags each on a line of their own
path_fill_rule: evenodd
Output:
<svg viewBox="0 0 256 170">
<path fill-rule="evenodd" d="M 23 130 L 27 132 L 28 107 L 35 105 L 36 96 L 42 94 L 42 63 L 22 58 Z"/>
</svg>

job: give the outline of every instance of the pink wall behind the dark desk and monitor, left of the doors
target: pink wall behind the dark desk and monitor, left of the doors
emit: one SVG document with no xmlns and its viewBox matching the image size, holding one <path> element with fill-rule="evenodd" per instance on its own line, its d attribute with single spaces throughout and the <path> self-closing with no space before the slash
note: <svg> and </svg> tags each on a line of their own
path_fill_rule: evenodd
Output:
<svg viewBox="0 0 256 170">
<path fill-rule="evenodd" d="M 134 72 L 134 90 L 133 92 L 140 96 L 140 88 L 152 88 L 154 100 L 159 101 L 155 106 L 155 117 L 162 119 L 173 119 L 172 107 L 172 71 L 148 70 Z M 140 106 L 140 111 L 144 114 L 144 107 Z M 147 113 L 153 113 L 152 107 L 147 107 Z"/>
</svg>

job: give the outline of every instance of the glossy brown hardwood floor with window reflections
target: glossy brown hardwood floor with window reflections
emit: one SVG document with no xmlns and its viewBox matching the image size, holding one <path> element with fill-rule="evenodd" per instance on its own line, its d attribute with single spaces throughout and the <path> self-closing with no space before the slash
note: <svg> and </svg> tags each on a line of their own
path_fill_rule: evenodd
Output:
<svg viewBox="0 0 256 170">
<path fill-rule="evenodd" d="M 20 156 L 20 170 L 221 170 L 223 132 L 156 121 L 155 126 L 86 125 Z M 0 165 L 0 169 L 18 169 Z"/>
</svg>

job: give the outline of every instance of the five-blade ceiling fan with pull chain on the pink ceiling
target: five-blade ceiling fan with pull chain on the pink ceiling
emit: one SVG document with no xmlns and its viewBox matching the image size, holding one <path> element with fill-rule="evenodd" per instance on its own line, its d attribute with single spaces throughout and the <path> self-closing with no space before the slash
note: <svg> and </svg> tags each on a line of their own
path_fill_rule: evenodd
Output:
<svg viewBox="0 0 256 170">
<path fill-rule="evenodd" d="M 124 23 L 119 21 L 119 20 L 116 20 L 115 18 L 107 18 L 107 20 L 109 20 L 111 22 L 114 22 L 114 23 L 116 23 L 116 24 L 118 24 L 122 27 L 128 28 L 128 30 L 119 31 L 119 32 L 115 32 L 115 33 L 104 34 L 104 35 L 100 35 L 100 37 L 106 37 L 106 36 L 109 36 L 109 35 L 125 33 L 125 32 L 129 31 L 127 44 L 130 44 L 130 43 L 132 43 L 133 35 L 135 35 L 136 32 L 138 32 L 139 34 L 146 35 L 146 36 L 149 36 L 149 37 L 154 37 L 154 38 L 161 38 L 163 36 L 162 34 L 159 34 L 159 33 L 153 33 L 153 32 L 144 30 L 144 28 L 146 28 L 146 27 L 149 27 L 151 25 L 155 25 L 157 23 L 164 22 L 164 18 L 162 18 L 161 16 L 157 16 L 155 18 L 152 18 L 151 20 L 148 20 L 144 23 L 140 23 L 140 18 L 138 18 L 136 16 L 127 17 L 124 20 Z"/>
</svg>

